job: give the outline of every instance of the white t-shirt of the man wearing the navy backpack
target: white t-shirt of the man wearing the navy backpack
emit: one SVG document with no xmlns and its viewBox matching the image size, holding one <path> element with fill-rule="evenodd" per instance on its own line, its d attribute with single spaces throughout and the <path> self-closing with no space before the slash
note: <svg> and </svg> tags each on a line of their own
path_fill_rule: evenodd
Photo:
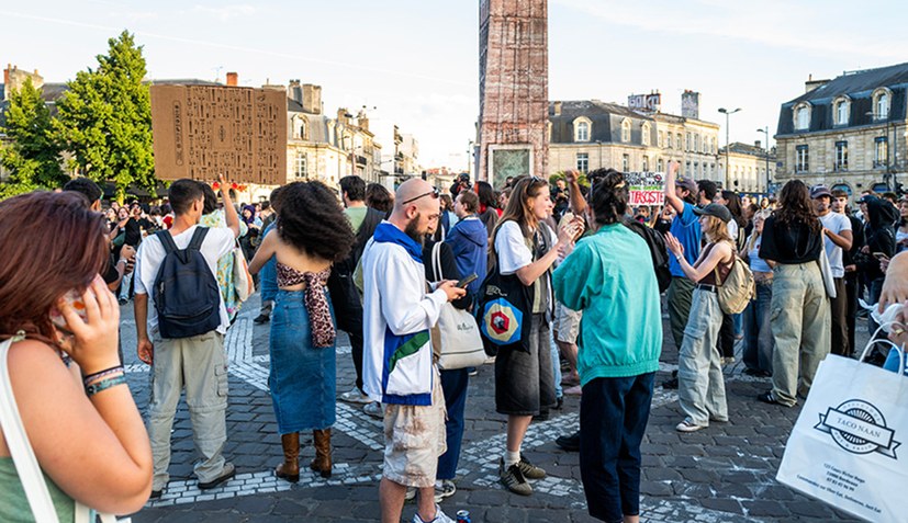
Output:
<svg viewBox="0 0 908 523">
<path fill-rule="evenodd" d="M 180 249 L 189 247 L 192 240 L 192 234 L 195 232 L 198 225 L 186 229 L 173 237 L 173 242 Z M 202 255 L 209 264 L 211 273 L 217 278 L 217 260 L 233 249 L 236 237 L 233 230 L 224 227 L 209 228 L 205 240 L 202 241 Z M 150 292 L 155 287 L 155 278 L 158 275 L 158 270 L 164 261 L 166 252 L 164 246 L 157 236 L 152 235 L 138 246 L 138 251 L 135 255 L 135 292 L 136 294 L 148 295 L 148 332 L 158 332 L 158 312 L 155 309 L 155 296 Z M 217 293 L 221 296 L 221 293 Z M 227 333 L 227 327 L 231 325 L 231 319 L 227 316 L 227 308 L 224 306 L 224 298 L 221 298 L 221 325 L 217 327 L 217 332 L 222 334 Z"/>
</svg>

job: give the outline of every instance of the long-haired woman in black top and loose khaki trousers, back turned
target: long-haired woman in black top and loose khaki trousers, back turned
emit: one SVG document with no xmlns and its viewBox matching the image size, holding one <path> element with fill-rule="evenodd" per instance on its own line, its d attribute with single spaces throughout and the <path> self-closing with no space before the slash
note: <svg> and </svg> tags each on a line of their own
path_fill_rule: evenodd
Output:
<svg viewBox="0 0 908 523">
<path fill-rule="evenodd" d="M 829 354 L 832 328 L 818 263 L 822 224 L 814 214 L 807 185 L 800 180 L 786 183 L 778 205 L 763 224 L 760 246 L 760 258 L 776 263 L 770 306 L 773 388 L 756 399 L 794 407 L 798 395 L 807 397 L 817 366 Z"/>
</svg>

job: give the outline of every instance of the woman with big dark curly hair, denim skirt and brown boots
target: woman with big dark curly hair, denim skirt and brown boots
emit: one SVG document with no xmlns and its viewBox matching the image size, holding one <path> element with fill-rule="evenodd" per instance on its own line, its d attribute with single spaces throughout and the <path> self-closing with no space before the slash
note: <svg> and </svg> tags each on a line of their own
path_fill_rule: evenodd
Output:
<svg viewBox="0 0 908 523">
<path fill-rule="evenodd" d="M 310 468 L 327 478 L 336 374 L 327 281 L 332 264 L 349 253 L 354 231 L 327 186 L 294 182 L 281 191 L 277 232 L 265 237 L 249 264 L 255 273 L 272 255 L 277 259 L 268 384 L 284 461 L 274 474 L 291 482 L 300 480 L 300 431 L 312 430 L 315 459 Z"/>
</svg>

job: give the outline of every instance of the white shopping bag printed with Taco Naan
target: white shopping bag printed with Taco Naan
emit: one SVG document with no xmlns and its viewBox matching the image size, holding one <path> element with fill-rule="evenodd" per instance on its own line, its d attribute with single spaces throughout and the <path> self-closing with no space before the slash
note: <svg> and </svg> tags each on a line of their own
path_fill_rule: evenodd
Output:
<svg viewBox="0 0 908 523">
<path fill-rule="evenodd" d="M 776 479 L 867 521 L 908 522 L 906 440 L 903 373 L 829 355 L 817 369 Z"/>
</svg>

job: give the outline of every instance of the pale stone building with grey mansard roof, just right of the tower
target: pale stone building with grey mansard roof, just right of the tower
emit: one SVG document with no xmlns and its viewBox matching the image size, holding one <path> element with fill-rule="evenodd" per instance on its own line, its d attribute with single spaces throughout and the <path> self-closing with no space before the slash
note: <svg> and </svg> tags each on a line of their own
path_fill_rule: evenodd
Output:
<svg viewBox="0 0 908 523">
<path fill-rule="evenodd" d="M 719 181 L 719 125 L 695 117 L 644 113 L 598 100 L 549 104 L 549 171 L 613 168 L 664 171 L 670 160 L 681 173 Z"/>
</svg>

